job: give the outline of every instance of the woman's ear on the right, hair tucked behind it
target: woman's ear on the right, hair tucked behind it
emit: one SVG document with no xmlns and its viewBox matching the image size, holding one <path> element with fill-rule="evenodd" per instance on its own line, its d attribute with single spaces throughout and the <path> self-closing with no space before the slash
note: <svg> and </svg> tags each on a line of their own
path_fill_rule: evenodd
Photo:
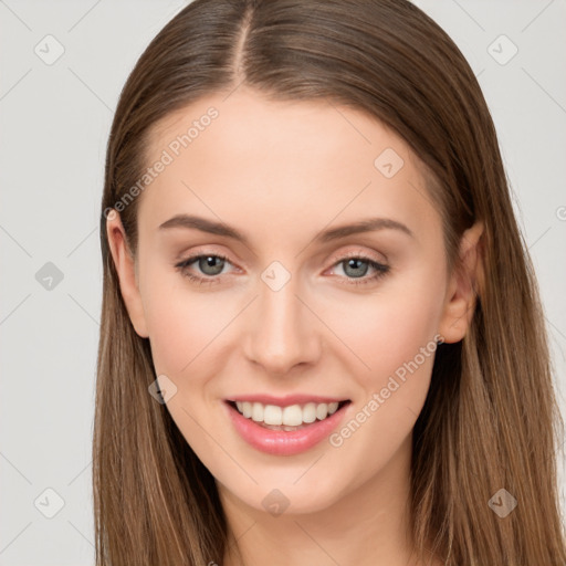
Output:
<svg viewBox="0 0 566 566">
<path fill-rule="evenodd" d="M 439 334 L 446 343 L 460 342 L 472 322 L 476 289 L 483 285 L 483 222 L 475 222 L 464 231 L 460 241 L 460 262 L 455 264 L 450 276 L 439 327 Z"/>
</svg>

